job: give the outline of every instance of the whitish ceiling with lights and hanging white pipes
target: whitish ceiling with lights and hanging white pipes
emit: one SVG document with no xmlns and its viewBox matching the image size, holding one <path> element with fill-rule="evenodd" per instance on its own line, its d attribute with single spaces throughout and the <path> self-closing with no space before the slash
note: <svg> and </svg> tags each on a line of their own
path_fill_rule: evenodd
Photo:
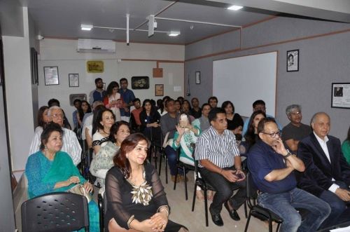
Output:
<svg viewBox="0 0 350 232">
<path fill-rule="evenodd" d="M 1 1 L 4 0 L 0 0 L 0 6 Z M 124 30 L 112 32 L 109 29 L 94 28 L 87 32 L 80 30 L 80 24 L 125 28 L 128 13 L 130 41 L 177 44 L 190 43 L 237 27 L 156 19 L 158 22 L 156 30 L 180 31 L 181 35 L 169 37 L 165 33 L 155 33 L 148 38 L 147 32 L 138 32 L 134 29 L 147 30 L 148 15 L 237 26 L 249 25 L 281 13 L 293 14 L 288 17 L 300 15 L 350 22 L 349 0 L 331 1 L 334 4 L 329 2 L 328 0 L 20 0 L 22 6 L 28 7 L 38 34 L 45 37 L 125 41 Z M 245 7 L 241 11 L 228 11 L 226 7 L 231 4 Z M 3 18 L 4 16 L 0 14 L 1 26 Z M 3 34 L 6 34 L 6 27 L 3 27 Z"/>
</svg>

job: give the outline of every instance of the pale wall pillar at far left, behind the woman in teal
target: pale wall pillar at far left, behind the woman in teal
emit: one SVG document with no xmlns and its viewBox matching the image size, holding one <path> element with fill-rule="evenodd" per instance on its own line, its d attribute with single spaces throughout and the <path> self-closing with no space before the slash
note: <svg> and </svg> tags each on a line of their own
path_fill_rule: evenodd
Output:
<svg viewBox="0 0 350 232">
<path fill-rule="evenodd" d="M 2 37 L 13 171 L 25 168 L 29 146 L 34 134 L 27 8 L 23 8 L 23 24 L 24 37 Z"/>
</svg>

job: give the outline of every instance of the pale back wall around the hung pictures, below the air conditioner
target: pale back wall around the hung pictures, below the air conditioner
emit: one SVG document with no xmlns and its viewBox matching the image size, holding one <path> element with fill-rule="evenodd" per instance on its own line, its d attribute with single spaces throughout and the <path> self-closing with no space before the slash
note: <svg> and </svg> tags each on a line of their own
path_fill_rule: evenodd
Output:
<svg viewBox="0 0 350 232">
<path fill-rule="evenodd" d="M 183 61 L 184 46 L 148 43 L 130 43 L 130 46 L 127 46 L 125 43 L 116 43 L 115 54 L 77 53 L 76 46 L 76 40 L 44 39 L 40 44 L 38 61 L 38 106 L 46 105 L 48 100 L 56 98 L 61 103 L 70 123 L 72 123 L 71 115 L 74 108 L 69 105 L 69 95 L 73 93 L 88 95 L 94 89 L 94 79 L 97 77 L 101 77 L 107 86 L 111 81 L 119 82 L 121 78 L 125 77 L 129 80 L 129 88 L 131 88 L 132 76 L 149 76 L 150 88 L 148 90 L 134 90 L 136 97 L 141 100 L 158 99 L 155 97 L 155 83 L 165 85 L 165 95 L 183 96 L 183 63 L 160 62 L 159 67 L 163 68 L 163 78 L 153 79 L 153 68 L 156 67 L 155 60 Z M 103 60 L 104 73 L 87 73 L 87 60 Z M 58 67 L 58 86 L 45 86 L 43 75 L 43 67 L 45 66 Z M 68 74 L 79 74 L 78 88 L 69 88 Z M 174 86 L 181 86 L 181 91 L 174 92 Z"/>
</svg>

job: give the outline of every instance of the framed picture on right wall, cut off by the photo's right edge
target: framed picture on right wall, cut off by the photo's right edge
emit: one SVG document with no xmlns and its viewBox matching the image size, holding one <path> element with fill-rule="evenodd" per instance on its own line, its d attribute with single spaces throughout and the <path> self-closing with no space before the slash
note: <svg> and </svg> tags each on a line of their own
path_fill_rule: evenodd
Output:
<svg viewBox="0 0 350 232">
<path fill-rule="evenodd" d="M 350 83 L 332 83 L 331 107 L 350 109 Z"/>
</svg>

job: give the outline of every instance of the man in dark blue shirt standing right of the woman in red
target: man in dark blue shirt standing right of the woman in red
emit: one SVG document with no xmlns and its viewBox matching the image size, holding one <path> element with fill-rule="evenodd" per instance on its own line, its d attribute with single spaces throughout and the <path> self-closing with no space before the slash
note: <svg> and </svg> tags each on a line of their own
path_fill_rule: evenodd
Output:
<svg viewBox="0 0 350 232">
<path fill-rule="evenodd" d="M 120 116 L 123 121 L 129 123 L 130 121 L 130 107 L 134 105 L 132 102 L 135 99 L 134 92 L 127 88 L 127 79 L 122 78 L 119 81 L 120 83 L 120 96 L 123 98 L 124 108 L 120 109 Z"/>
</svg>

